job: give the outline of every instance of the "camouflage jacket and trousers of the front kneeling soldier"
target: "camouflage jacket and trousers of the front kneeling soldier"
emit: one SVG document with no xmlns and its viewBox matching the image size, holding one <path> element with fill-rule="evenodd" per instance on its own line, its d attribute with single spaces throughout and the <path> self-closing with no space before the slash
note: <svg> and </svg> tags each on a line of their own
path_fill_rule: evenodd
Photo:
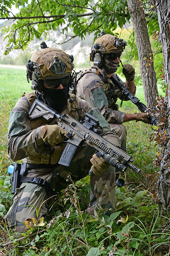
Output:
<svg viewBox="0 0 170 256">
<path fill-rule="evenodd" d="M 22 97 L 11 111 L 8 130 L 8 153 L 14 161 L 23 159 L 24 162 L 28 163 L 51 163 L 52 156 L 50 150 L 44 146 L 44 141 L 39 135 L 40 126 L 45 122 L 47 123 L 47 120 L 41 118 L 36 121 L 30 121 L 27 118 L 30 105 L 33 103 L 33 99 L 36 98 L 35 95 L 37 95 L 36 91 L 34 94 L 30 93 Z M 103 137 L 110 140 L 113 144 L 120 146 L 119 137 L 111 131 L 110 126 L 96 108 L 92 108 L 88 102 L 79 98 L 77 99 L 76 107 L 76 109 L 84 108 L 88 113 L 98 118 L 100 120 L 100 130 L 104 132 Z M 83 109 L 78 111 L 79 114 L 77 111 L 72 111 L 72 109 L 75 110 L 75 105 L 73 107 L 68 101 L 66 109 L 62 113 L 70 114 L 78 120 L 84 119 L 85 112 Z M 61 144 L 60 154 L 63 150 L 64 145 Z M 92 147 L 83 145 L 70 167 L 56 165 L 55 168 L 49 169 L 28 169 L 24 176 L 43 178 L 49 182 L 52 189 L 61 190 L 71 184 L 70 180 L 67 181 L 68 174 L 71 175 L 74 182 L 88 175 L 91 167 L 90 159 L 94 151 Z M 55 157 L 55 160 L 52 159 L 52 161 L 53 164 L 56 163 L 58 161 L 57 157 Z M 104 183 L 106 187 L 103 189 Z M 114 210 L 115 190 L 112 188 L 115 184 L 115 168 L 110 166 L 100 176 L 91 176 L 90 184 L 91 199 L 89 207 L 92 205 L 96 208 L 100 204 L 106 212 L 110 208 Z M 111 191 L 109 192 L 109 190 Z M 33 183 L 22 183 L 16 190 L 13 204 L 7 213 L 10 227 L 18 232 L 26 231 L 24 221 L 27 218 L 37 218 L 36 209 L 38 209 L 38 219 L 41 216 L 46 216 L 49 203 L 48 198 L 50 198 L 50 195 L 44 187 Z"/>
</svg>

